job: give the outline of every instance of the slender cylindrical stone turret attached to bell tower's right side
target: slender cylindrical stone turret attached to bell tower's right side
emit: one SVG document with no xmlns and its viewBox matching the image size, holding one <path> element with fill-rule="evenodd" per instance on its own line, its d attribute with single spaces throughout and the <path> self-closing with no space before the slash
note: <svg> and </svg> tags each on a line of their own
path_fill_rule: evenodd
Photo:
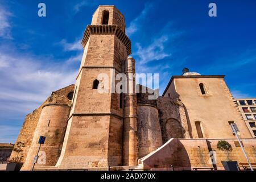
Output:
<svg viewBox="0 0 256 182">
<path fill-rule="evenodd" d="M 123 114 L 123 165 L 138 165 L 137 95 L 135 92 L 135 60 L 128 57 L 125 65 L 127 93 Z"/>
</svg>

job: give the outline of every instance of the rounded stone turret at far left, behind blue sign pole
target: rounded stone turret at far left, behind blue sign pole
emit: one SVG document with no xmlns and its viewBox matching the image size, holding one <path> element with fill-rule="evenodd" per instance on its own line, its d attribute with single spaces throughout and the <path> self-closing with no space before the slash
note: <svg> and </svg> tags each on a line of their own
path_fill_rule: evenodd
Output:
<svg viewBox="0 0 256 182">
<path fill-rule="evenodd" d="M 68 105 L 46 105 L 43 107 L 36 126 L 23 170 L 30 170 L 34 156 L 38 152 L 40 136 L 46 137 L 40 147 L 38 163 L 35 167 L 55 166 L 59 159 L 70 107 Z"/>
</svg>

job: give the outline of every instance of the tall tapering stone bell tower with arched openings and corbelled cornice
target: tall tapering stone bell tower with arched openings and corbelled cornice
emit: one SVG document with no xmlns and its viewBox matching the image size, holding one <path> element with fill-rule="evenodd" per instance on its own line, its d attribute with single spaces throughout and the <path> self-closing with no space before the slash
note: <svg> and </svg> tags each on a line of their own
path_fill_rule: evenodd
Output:
<svg viewBox="0 0 256 182">
<path fill-rule="evenodd" d="M 124 98 L 111 90 L 113 82 L 118 82 L 113 76 L 125 73 L 131 54 L 123 15 L 114 6 L 99 6 L 86 27 L 82 46 L 84 55 L 56 167 L 121 166 Z M 108 78 L 99 77 L 102 73 Z M 98 88 L 105 92 L 99 93 Z"/>
</svg>

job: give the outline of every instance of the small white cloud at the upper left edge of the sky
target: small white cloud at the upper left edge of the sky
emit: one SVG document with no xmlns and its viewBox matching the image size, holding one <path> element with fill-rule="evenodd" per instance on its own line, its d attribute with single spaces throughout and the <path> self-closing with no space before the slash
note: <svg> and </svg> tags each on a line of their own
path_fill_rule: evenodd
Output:
<svg viewBox="0 0 256 182">
<path fill-rule="evenodd" d="M 0 4 L 0 37 L 5 39 L 13 39 L 11 37 L 9 17 L 12 14 Z"/>
</svg>

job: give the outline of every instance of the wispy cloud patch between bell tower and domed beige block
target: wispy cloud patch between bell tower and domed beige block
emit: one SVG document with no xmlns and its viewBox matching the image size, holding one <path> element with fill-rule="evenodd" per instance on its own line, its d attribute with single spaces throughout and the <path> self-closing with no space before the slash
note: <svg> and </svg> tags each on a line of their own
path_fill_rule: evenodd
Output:
<svg viewBox="0 0 256 182">
<path fill-rule="evenodd" d="M 150 73 L 153 73 L 158 71 L 160 73 L 160 71 L 164 72 L 171 67 L 175 67 L 171 59 L 176 49 L 174 43 L 176 39 L 184 34 L 184 31 L 175 30 L 172 28 L 173 24 L 173 22 L 168 22 L 162 30 L 156 32 L 156 36 L 152 38 L 151 44 L 142 46 L 141 43 L 135 43 L 137 50 L 133 53 L 133 56 L 137 61 L 138 72 L 150 71 Z M 154 64 L 154 66 L 149 64 L 152 61 L 160 61 L 167 57 L 170 59 L 165 61 L 165 63 Z M 179 60 L 179 63 L 175 64 L 184 64 L 187 58 L 187 56 L 184 56 L 183 59 Z"/>
</svg>

